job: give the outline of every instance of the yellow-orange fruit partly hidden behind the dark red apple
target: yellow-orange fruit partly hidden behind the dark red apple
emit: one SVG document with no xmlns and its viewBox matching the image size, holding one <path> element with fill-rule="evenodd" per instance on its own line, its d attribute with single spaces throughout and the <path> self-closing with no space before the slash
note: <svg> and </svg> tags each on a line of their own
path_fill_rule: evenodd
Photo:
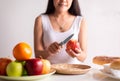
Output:
<svg viewBox="0 0 120 81">
<path fill-rule="evenodd" d="M 43 69 L 42 69 L 42 74 L 47 74 L 50 72 L 51 69 L 51 63 L 47 59 L 41 59 L 43 63 Z"/>
</svg>

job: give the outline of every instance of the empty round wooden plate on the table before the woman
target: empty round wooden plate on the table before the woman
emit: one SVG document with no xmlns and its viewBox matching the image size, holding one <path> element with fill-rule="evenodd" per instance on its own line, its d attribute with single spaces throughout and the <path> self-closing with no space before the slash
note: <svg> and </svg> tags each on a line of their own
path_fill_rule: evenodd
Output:
<svg viewBox="0 0 120 81">
<path fill-rule="evenodd" d="M 83 64 L 53 64 L 52 68 L 59 74 L 85 74 L 91 67 Z"/>
</svg>

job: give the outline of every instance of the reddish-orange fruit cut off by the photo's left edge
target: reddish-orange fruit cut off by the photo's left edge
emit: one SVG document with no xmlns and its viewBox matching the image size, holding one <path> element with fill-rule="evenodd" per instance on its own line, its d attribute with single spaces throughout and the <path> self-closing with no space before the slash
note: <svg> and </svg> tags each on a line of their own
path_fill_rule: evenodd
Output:
<svg viewBox="0 0 120 81">
<path fill-rule="evenodd" d="M 6 67 L 10 62 L 10 58 L 0 58 L 0 75 L 6 75 Z"/>
</svg>

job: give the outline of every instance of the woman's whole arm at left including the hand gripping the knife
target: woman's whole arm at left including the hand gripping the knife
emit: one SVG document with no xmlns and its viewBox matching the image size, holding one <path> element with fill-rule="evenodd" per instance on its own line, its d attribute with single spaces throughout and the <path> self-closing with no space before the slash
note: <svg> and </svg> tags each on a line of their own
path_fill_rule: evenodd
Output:
<svg viewBox="0 0 120 81">
<path fill-rule="evenodd" d="M 46 59 L 47 57 L 57 54 L 62 47 L 57 42 L 51 43 L 47 49 L 44 48 L 43 43 L 43 27 L 41 22 L 41 17 L 37 17 L 34 25 L 34 51 L 35 57 Z"/>
</svg>

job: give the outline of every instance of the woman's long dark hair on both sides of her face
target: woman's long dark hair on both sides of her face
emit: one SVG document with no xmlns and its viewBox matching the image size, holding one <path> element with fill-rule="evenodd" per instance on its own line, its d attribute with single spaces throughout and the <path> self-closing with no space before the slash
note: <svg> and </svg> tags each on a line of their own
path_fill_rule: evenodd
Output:
<svg viewBox="0 0 120 81">
<path fill-rule="evenodd" d="M 81 16 L 81 10 L 80 10 L 78 0 L 73 0 L 72 5 L 71 5 L 71 7 L 70 7 L 70 9 L 68 11 L 72 15 Z M 49 0 L 47 10 L 46 10 L 46 12 L 44 14 L 52 14 L 54 12 L 55 12 L 55 7 L 54 7 L 54 4 L 53 4 L 53 0 Z"/>
</svg>

